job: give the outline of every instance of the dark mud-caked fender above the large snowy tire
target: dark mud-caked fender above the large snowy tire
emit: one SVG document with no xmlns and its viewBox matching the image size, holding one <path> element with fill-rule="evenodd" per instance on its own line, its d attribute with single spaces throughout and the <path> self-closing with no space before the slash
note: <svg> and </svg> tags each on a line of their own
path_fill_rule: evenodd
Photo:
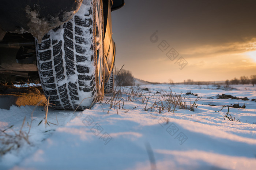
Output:
<svg viewBox="0 0 256 170">
<path fill-rule="evenodd" d="M 5 0 L 0 27 L 6 32 L 29 32 L 40 43 L 45 33 L 70 20 L 81 4 L 82 0 Z"/>
</svg>

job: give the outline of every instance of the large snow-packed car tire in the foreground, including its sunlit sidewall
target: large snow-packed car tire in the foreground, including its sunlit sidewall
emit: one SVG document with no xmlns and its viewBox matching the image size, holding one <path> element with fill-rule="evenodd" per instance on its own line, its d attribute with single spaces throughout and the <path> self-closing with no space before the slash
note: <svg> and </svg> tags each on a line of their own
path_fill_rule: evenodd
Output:
<svg viewBox="0 0 256 170">
<path fill-rule="evenodd" d="M 36 40 L 41 85 L 55 109 L 84 110 L 103 98 L 102 9 L 101 0 L 83 0 L 71 20 Z"/>
</svg>

